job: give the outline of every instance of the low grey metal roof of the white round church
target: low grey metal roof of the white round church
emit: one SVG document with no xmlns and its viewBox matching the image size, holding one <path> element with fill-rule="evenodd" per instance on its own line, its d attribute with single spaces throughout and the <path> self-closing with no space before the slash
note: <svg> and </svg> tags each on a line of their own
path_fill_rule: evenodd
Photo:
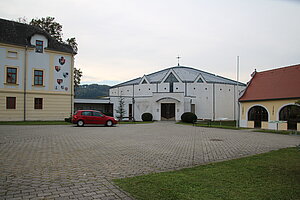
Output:
<svg viewBox="0 0 300 200">
<path fill-rule="evenodd" d="M 167 69 L 163 69 L 158 72 L 154 72 L 152 74 L 145 75 L 147 77 L 147 80 L 150 81 L 150 83 L 161 83 L 163 79 L 166 77 L 166 75 L 169 73 L 170 70 L 173 70 L 174 73 L 180 78 L 182 82 L 194 82 L 199 75 L 201 74 L 201 77 L 204 78 L 204 81 L 207 83 L 221 83 L 221 84 L 230 84 L 230 85 L 236 85 L 237 82 L 228 78 L 224 78 L 222 76 L 218 76 L 215 74 L 211 74 L 208 72 L 204 72 L 198 69 L 194 69 L 191 67 L 185 67 L 185 66 L 175 66 L 170 67 Z M 121 87 L 126 85 L 137 85 L 141 81 L 141 77 L 126 81 L 124 83 L 120 83 L 118 85 L 115 85 L 113 87 Z M 239 85 L 246 86 L 244 83 L 239 82 Z"/>
</svg>

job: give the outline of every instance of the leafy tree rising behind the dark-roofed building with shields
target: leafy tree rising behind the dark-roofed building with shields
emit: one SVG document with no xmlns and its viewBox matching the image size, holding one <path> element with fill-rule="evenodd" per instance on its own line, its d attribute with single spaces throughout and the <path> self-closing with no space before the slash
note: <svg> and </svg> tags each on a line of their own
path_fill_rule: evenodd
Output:
<svg viewBox="0 0 300 200">
<path fill-rule="evenodd" d="M 19 17 L 17 21 L 27 24 L 27 19 L 25 17 Z M 32 19 L 29 24 L 40 27 L 41 29 L 49 33 L 49 35 L 55 38 L 58 42 L 70 45 L 73 48 L 74 52 L 77 53 L 78 44 L 76 42 L 76 38 L 72 37 L 72 38 L 68 38 L 66 41 L 63 41 L 62 25 L 56 22 L 54 17 L 48 16 L 46 18 L 42 17 L 41 19 L 38 18 Z M 78 87 L 78 85 L 80 84 L 81 77 L 82 77 L 82 71 L 74 67 L 75 88 Z"/>
</svg>

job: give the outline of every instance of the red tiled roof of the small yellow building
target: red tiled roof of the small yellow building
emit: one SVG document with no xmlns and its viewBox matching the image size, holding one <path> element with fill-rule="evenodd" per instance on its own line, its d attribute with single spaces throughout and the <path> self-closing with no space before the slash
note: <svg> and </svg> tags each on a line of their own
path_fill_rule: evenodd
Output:
<svg viewBox="0 0 300 200">
<path fill-rule="evenodd" d="M 239 101 L 300 98 L 300 64 L 256 72 Z"/>
</svg>

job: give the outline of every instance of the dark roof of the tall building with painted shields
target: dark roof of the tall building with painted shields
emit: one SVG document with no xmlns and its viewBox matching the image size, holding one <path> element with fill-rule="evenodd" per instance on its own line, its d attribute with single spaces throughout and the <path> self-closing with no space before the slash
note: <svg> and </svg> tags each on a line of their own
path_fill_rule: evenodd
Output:
<svg viewBox="0 0 300 200">
<path fill-rule="evenodd" d="M 49 50 L 76 54 L 71 46 L 58 42 L 37 26 L 0 19 L 0 43 L 34 47 L 30 44 L 30 38 L 34 34 L 44 35 L 48 39 Z"/>
</svg>

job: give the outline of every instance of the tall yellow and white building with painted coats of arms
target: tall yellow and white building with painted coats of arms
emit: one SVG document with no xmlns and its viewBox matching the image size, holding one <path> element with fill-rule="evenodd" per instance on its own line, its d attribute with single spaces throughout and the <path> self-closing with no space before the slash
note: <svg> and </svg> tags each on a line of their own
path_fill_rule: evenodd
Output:
<svg viewBox="0 0 300 200">
<path fill-rule="evenodd" d="M 0 121 L 64 120 L 73 112 L 72 47 L 0 19 Z"/>
</svg>

